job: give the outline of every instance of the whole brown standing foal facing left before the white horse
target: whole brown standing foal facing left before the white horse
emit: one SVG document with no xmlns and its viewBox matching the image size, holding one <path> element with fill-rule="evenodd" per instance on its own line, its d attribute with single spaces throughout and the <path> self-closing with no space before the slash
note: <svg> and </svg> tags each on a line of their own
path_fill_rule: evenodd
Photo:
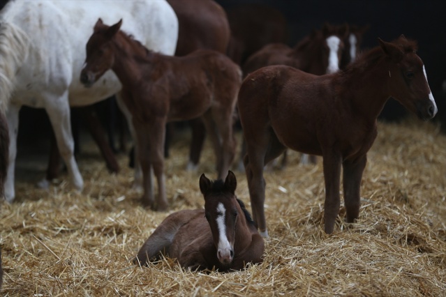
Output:
<svg viewBox="0 0 446 297">
<path fill-rule="evenodd" d="M 99 19 L 87 42 L 87 58 L 80 74 L 85 86 L 93 85 L 107 70 L 123 84 L 123 100 L 133 115 L 137 151 L 142 167 L 144 206 L 163 211 L 165 124 L 195 119 L 205 123 L 214 144 L 218 177 L 228 172 L 235 154 L 232 117 L 241 84 L 241 70 L 227 56 L 198 50 L 186 56 L 165 56 L 147 50 L 120 31 L 122 20 L 112 26 Z M 154 201 L 151 170 L 158 181 Z"/>
</svg>

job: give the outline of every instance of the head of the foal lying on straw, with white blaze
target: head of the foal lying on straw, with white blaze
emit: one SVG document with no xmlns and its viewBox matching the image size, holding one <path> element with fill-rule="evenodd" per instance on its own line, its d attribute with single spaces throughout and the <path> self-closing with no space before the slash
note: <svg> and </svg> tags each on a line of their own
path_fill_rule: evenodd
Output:
<svg viewBox="0 0 446 297">
<path fill-rule="evenodd" d="M 237 180 L 229 171 L 225 181 L 210 181 L 202 174 L 200 190 L 205 197 L 205 216 L 211 227 L 218 261 L 230 264 L 234 259 L 234 243 L 237 221 L 243 215 L 235 197 Z"/>
</svg>

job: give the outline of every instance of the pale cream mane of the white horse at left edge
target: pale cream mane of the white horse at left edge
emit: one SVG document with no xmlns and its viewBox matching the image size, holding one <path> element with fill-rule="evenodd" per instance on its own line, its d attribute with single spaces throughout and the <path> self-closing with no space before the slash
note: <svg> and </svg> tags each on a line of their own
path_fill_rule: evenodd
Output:
<svg viewBox="0 0 446 297">
<path fill-rule="evenodd" d="M 0 23 L 0 111 L 5 112 L 15 87 L 17 75 L 29 54 L 29 37 L 8 22 Z"/>
</svg>

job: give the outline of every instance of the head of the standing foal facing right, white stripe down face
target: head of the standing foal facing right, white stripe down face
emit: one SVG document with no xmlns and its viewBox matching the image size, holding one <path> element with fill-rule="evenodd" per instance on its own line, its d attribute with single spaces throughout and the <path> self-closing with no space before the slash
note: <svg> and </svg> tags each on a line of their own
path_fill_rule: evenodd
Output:
<svg viewBox="0 0 446 297">
<path fill-rule="evenodd" d="M 392 43 L 378 38 L 385 53 L 389 75 L 389 94 L 424 121 L 438 112 L 427 82 L 422 59 L 416 54 L 415 41 L 401 35 Z"/>
</svg>

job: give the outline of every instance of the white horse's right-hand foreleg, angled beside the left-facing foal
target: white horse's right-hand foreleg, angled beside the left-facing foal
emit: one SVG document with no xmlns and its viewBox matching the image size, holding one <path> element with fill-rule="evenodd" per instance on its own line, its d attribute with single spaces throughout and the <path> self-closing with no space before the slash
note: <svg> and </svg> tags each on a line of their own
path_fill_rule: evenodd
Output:
<svg viewBox="0 0 446 297">
<path fill-rule="evenodd" d="M 57 146 L 61 153 L 62 159 L 64 159 L 65 165 L 68 169 L 71 183 L 76 190 L 82 190 L 84 188 L 84 180 L 79 172 L 77 163 L 74 157 L 74 140 L 71 134 L 70 123 L 70 107 L 68 105 L 68 91 L 59 98 L 51 98 L 48 102 L 53 102 L 51 105 L 45 107 L 50 122 L 56 135 Z"/>
</svg>

